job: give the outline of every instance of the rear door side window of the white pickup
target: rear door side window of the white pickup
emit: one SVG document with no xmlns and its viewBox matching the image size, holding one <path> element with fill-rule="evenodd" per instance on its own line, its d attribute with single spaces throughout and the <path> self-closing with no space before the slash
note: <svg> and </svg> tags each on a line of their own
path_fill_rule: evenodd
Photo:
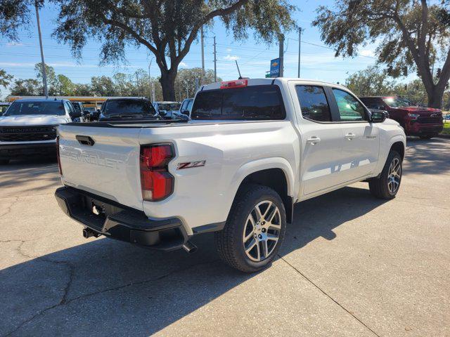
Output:
<svg viewBox="0 0 450 337">
<path fill-rule="evenodd" d="M 302 116 L 313 121 L 331 121 L 330 106 L 321 86 L 295 86 Z"/>
</svg>

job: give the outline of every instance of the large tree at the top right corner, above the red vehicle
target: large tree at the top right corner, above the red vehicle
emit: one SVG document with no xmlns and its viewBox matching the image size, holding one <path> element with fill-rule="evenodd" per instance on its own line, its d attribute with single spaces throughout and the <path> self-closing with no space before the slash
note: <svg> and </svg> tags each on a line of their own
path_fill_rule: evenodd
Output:
<svg viewBox="0 0 450 337">
<path fill-rule="evenodd" d="M 337 0 L 336 10 L 320 6 L 313 25 L 336 55 L 355 56 L 359 46 L 380 42 L 378 62 L 394 77 L 416 70 L 430 107 L 442 106 L 450 79 L 450 13 L 445 4 L 427 0 Z M 442 63 L 439 79 L 432 65 Z"/>
</svg>

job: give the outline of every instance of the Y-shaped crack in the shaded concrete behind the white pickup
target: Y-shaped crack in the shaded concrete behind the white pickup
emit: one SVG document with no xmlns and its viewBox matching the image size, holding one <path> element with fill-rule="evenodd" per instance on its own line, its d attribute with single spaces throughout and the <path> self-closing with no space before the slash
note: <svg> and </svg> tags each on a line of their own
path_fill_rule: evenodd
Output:
<svg viewBox="0 0 450 337">
<path fill-rule="evenodd" d="M 21 240 L 18 240 L 18 241 L 21 241 Z M 55 261 L 55 260 L 49 260 L 49 259 L 39 258 L 39 257 L 37 259 L 41 259 L 41 260 L 44 260 L 46 262 L 51 262 L 51 263 L 68 263 L 67 261 Z M 185 267 L 185 268 L 172 270 L 171 272 L 167 272 L 166 274 L 160 275 L 159 277 L 153 277 L 153 278 L 145 279 L 145 280 L 139 281 L 139 282 L 129 282 L 127 284 L 121 284 L 120 286 L 114 286 L 114 287 L 111 287 L 111 288 L 108 288 L 108 289 L 94 291 L 92 293 L 85 293 L 83 295 L 80 295 L 80 296 L 77 296 L 75 298 L 71 298 L 71 299 L 68 300 L 67 299 L 67 294 L 68 294 L 70 285 L 72 284 L 73 275 L 75 274 L 75 267 L 73 267 L 73 265 L 72 265 L 72 267 L 70 268 L 70 279 L 69 279 L 68 283 L 65 286 L 63 297 L 61 298 L 60 302 L 55 304 L 55 305 L 51 305 L 50 307 L 44 308 L 42 310 L 39 310 L 39 312 L 37 312 L 36 314 L 32 315 L 32 317 L 30 317 L 28 319 L 25 319 L 25 321 L 20 323 L 13 331 L 6 333 L 6 335 L 4 335 L 4 337 L 12 336 L 13 333 L 15 333 L 18 330 L 20 330 L 23 326 L 25 326 L 25 324 L 28 324 L 28 323 L 32 322 L 32 320 L 34 320 L 35 318 L 40 317 L 41 315 L 44 315 L 47 311 L 52 310 L 54 308 L 57 308 L 57 307 L 59 307 L 61 305 L 68 305 L 69 303 L 72 303 L 75 300 L 89 298 L 91 296 L 95 296 L 95 295 L 98 295 L 98 294 L 101 294 L 101 293 L 106 293 L 106 292 L 109 292 L 109 291 L 116 291 L 116 290 L 124 289 L 124 288 L 127 288 L 129 286 L 136 286 L 136 285 L 146 284 L 148 282 L 158 281 L 160 279 L 165 279 L 166 277 L 174 275 L 174 274 L 176 274 L 178 272 L 184 272 L 184 271 L 189 270 L 189 269 L 191 269 L 193 267 L 197 267 L 199 265 L 207 265 L 207 264 L 214 263 L 214 262 L 217 262 L 217 261 L 218 261 L 218 259 L 207 261 L 207 262 L 195 263 L 195 264 L 189 265 L 188 267 Z"/>
</svg>

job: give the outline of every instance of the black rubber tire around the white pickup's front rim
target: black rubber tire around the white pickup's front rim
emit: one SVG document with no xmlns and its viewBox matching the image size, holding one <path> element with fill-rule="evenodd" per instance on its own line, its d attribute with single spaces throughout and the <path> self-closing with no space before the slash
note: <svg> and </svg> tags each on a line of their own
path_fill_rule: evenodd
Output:
<svg viewBox="0 0 450 337">
<path fill-rule="evenodd" d="M 399 180 L 397 189 L 392 191 L 390 190 L 388 183 L 390 178 L 390 166 L 394 160 L 399 161 L 400 171 L 399 171 Z M 389 155 L 387 156 L 385 167 L 383 167 L 383 171 L 381 172 L 378 178 L 371 178 L 368 181 L 368 187 L 371 190 L 373 196 L 380 199 L 394 199 L 399 192 L 400 183 L 401 183 L 401 173 L 403 172 L 403 168 L 401 166 L 401 157 L 400 154 L 396 151 L 391 150 Z"/>
</svg>

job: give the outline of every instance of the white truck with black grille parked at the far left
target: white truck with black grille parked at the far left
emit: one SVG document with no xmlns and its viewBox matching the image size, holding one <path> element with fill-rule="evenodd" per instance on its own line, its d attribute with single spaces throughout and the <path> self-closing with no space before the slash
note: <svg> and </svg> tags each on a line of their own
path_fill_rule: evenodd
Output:
<svg viewBox="0 0 450 337">
<path fill-rule="evenodd" d="M 58 125 L 79 117 L 68 100 L 15 100 L 0 117 L 0 164 L 21 157 L 56 156 Z"/>
</svg>

